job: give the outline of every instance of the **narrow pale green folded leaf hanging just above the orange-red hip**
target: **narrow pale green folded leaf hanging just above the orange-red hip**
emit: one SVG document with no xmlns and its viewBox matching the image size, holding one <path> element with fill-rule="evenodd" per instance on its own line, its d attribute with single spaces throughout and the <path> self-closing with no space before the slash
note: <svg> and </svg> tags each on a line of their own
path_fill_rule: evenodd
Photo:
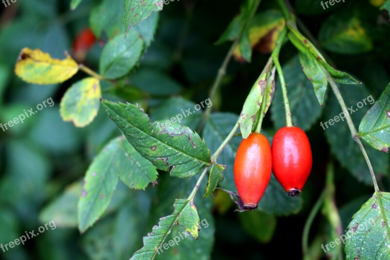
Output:
<svg viewBox="0 0 390 260">
<path fill-rule="evenodd" d="M 239 117 L 240 130 L 243 139 L 247 139 L 252 132 L 254 117 L 257 111 L 259 111 L 261 101 L 263 100 L 263 95 L 267 86 L 267 74 L 270 72 L 271 65 L 272 59 L 270 58 L 256 82 L 254 82 L 254 85 L 244 102 Z"/>
</svg>

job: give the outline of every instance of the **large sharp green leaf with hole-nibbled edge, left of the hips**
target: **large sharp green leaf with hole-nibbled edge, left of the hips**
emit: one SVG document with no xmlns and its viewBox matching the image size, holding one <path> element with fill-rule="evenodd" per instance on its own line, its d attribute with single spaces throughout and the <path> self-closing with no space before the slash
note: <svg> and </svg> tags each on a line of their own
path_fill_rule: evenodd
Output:
<svg viewBox="0 0 390 260">
<path fill-rule="evenodd" d="M 210 150 L 190 128 L 177 123 L 153 128 L 149 117 L 136 105 L 102 101 L 103 107 L 127 140 L 144 158 L 173 177 L 187 178 L 210 165 Z"/>
</svg>

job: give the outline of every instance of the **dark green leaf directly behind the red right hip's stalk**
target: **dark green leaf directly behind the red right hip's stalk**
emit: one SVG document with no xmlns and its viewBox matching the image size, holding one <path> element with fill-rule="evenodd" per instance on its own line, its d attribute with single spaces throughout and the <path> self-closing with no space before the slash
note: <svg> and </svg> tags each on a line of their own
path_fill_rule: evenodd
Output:
<svg viewBox="0 0 390 260">
<path fill-rule="evenodd" d="M 292 122 L 304 131 L 309 130 L 312 124 L 321 116 L 322 107 L 318 105 L 317 98 L 312 90 L 312 83 L 301 69 L 298 55 L 283 65 L 283 73 L 287 83 Z M 286 125 L 283 95 L 279 79 L 276 79 L 271 112 L 275 128 L 279 129 Z"/>
</svg>

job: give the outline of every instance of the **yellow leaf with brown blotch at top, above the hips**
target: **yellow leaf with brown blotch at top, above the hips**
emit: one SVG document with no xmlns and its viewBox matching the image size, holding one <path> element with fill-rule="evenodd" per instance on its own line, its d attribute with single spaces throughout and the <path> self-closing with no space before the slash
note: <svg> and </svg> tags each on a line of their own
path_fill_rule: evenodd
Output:
<svg viewBox="0 0 390 260">
<path fill-rule="evenodd" d="M 279 11 L 270 10 L 256 15 L 249 28 L 252 49 L 262 53 L 271 53 L 285 24 Z M 240 46 L 235 48 L 233 55 L 237 60 L 243 59 Z"/>
</svg>

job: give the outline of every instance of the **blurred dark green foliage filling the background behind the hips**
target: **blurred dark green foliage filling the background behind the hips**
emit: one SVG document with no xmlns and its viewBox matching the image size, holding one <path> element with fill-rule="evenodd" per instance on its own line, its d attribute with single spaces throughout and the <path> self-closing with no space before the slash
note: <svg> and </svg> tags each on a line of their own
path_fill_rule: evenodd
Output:
<svg viewBox="0 0 390 260">
<path fill-rule="evenodd" d="M 55 101 L 54 106 L 44 108 L 23 124 L 0 131 L 0 243 L 15 240 L 24 231 L 37 230 L 50 220 L 57 224 L 57 229 L 28 240 L 24 246 L 0 251 L 1 259 L 128 259 L 142 246 L 142 236 L 158 219 L 172 213 L 174 200 L 188 196 L 194 186 L 194 178 L 169 178 L 165 172 L 159 172 L 156 187 L 149 185 L 146 191 L 131 190 L 119 183 L 104 216 L 80 234 L 77 203 L 81 180 L 93 158 L 120 132 L 102 109 L 84 128 L 62 121 L 59 102 L 73 83 L 85 77 L 82 72 L 55 85 L 27 84 L 13 73 L 20 50 L 26 46 L 40 48 L 59 59 L 64 58 L 65 51 L 73 55 L 72 42 L 86 27 L 93 29 L 98 41 L 84 64 L 98 71 L 104 44 L 124 32 L 119 19 L 122 2 L 83 0 L 74 11 L 69 9 L 69 0 L 17 0 L 0 7 L 0 122 L 12 120 L 23 109 L 49 97 Z M 291 3 L 337 68 L 363 81 L 362 85 L 341 86 L 347 106 L 369 95 L 377 100 L 390 81 L 388 13 L 369 0 L 340 2 L 326 10 L 316 0 Z M 171 118 L 180 109 L 206 100 L 230 47 L 214 43 L 237 15 L 240 4 L 237 0 L 175 0 L 164 5 L 158 12 L 155 39 L 137 68 L 123 81 L 124 87 L 115 91 L 102 82 L 103 97 L 137 101 L 147 108 L 152 120 Z M 263 0 L 260 5 L 260 11 L 276 8 L 273 1 Z M 100 24 L 106 27 L 98 35 Z M 250 63 L 231 61 L 213 103 L 213 109 L 223 114 L 214 114 L 212 123 L 202 132 L 212 152 L 224 139 L 218 133 L 226 136 L 232 129 L 268 57 L 254 52 Z M 372 195 L 369 171 L 347 124 L 339 122 L 326 131 L 320 126 L 320 121 L 341 112 L 331 91 L 326 94 L 324 107 L 319 106 L 291 43 L 283 47 L 281 61 L 289 84 L 292 119 L 307 131 L 312 143 L 312 174 L 301 197 L 286 202 L 285 194 L 272 179 L 259 210 L 238 214 L 229 196 L 220 191 L 215 198 L 203 199 L 202 187 L 195 200 L 200 219 L 206 219 L 209 227 L 201 229 L 198 241 L 183 240 L 158 259 L 300 258 L 303 226 L 325 186 L 330 162 L 334 163 L 334 202 L 343 230 Z M 364 106 L 352 115 L 355 125 L 369 108 Z M 263 123 L 265 133 L 273 136 L 284 120 L 277 82 L 270 114 Z M 200 114 L 195 114 L 185 124 L 195 130 L 199 121 Z M 218 160 L 228 165 L 220 186 L 234 191 L 232 166 L 239 141 L 240 137 L 235 137 Z M 367 149 L 380 188 L 390 191 L 388 155 Z M 334 236 L 328 221 L 330 212 L 325 209 L 323 213 L 325 216 L 314 219 L 309 234 L 312 259 L 325 257 L 320 245 Z M 170 236 L 178 231 L 175 227 Z"/>
</svg>

